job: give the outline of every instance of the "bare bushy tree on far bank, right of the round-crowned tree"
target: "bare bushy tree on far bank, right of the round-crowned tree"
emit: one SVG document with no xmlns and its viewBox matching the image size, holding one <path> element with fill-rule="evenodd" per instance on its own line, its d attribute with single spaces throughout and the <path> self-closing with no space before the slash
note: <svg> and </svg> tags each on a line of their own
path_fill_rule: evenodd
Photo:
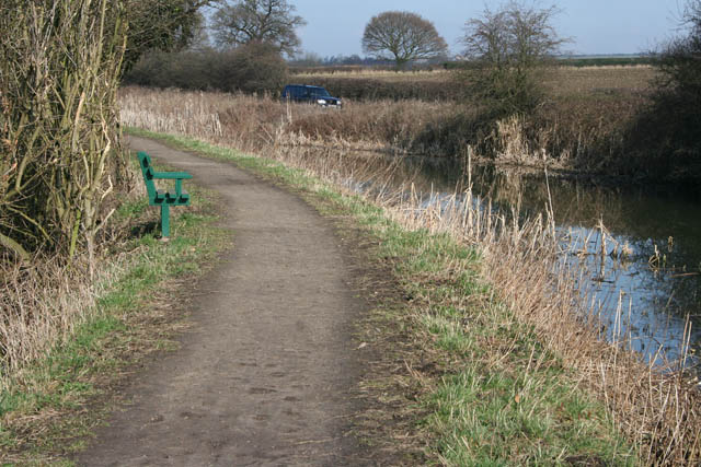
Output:
<svg viewBox="0 0 701 467">
<path fill-rule="evenodd" d="M 513 0 L 468 21 L 462 43 L 471 60 L 471 94 L 506 113 L 537 106 L 542 98 L 538 71 L 570 40 L 551 24 L 559 12 Z"/>
</svg>

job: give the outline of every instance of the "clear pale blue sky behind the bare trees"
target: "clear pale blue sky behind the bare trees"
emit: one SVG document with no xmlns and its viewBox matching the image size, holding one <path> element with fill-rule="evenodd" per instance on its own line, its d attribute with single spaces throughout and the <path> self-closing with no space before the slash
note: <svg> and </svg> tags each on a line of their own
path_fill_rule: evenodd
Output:
<svg viewBox="0 0 701 467">
<path fill-rule="evenodd" d="M 480 17 L 486 0 L 289 0 L 307 21 L 298 30 L 304 52 L 321 57 L 364 56 L 360 38 L 367 22 L 389 10 L 411 11 L 436 26 L 452 54 L 466 21 Z M 577 55 L 640 54 L 654 48 L 678 32 L 685 0 L 560 0 L 541 1 L 562 12 L 553 24 L 562 37 L 572 38 L 564 49 Z"/>
</svg>

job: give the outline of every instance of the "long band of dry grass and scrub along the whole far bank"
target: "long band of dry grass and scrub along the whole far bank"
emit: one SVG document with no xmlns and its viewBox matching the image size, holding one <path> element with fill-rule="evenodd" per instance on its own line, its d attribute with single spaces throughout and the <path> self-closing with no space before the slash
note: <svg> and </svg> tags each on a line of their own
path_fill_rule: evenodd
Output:
<svg viewBox="0 0 701 467">
<path fill-rule="evenodd" d="M 496 162 L 540 165 L 547 157 L 552 167 L 607 175 L 636 173 L 644 162 L 621 156 L 625 126 L 642 105 L 639 95 L 563 95 L 533 116 L 496 121 L 479 106 L 446 101 L 346 101 L 343 112 L 330 112 L 268 97 L 203 93 L 195 100 L 195 95 L 141 87 L 122 91 L 125 102 L 138 102 L 145 110 L 153 100 L 184 100 L 185 112 L 172 116 L 179 131 L 210 128 L 212 135 L 237 140 L 244 150 L 302 136 L 323 144 L 448 157 L 461 157 L 472 148 L 475 157 Z M 123 112 L 136 107 L 128 105 Z M 135 115 L 134 121 L 163 118 L 158 115 L 146 112 Z M 143 124 L 164 127 L 158 121 Z"/>
</svg>

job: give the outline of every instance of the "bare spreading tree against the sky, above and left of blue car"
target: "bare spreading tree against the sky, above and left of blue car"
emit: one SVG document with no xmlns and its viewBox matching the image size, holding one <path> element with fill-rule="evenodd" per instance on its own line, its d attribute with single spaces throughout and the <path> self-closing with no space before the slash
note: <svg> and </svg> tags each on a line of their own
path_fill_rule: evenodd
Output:
<svg viewBox="0 0 701 467">
<path fill-rule="evenodd" d="M 212 17 L 215 43 L 221 48 L 264 43 L 292 57 L 300 45 L 295 30 L 307 22 L 287 0 L 234 0 Z"/>
</svg>

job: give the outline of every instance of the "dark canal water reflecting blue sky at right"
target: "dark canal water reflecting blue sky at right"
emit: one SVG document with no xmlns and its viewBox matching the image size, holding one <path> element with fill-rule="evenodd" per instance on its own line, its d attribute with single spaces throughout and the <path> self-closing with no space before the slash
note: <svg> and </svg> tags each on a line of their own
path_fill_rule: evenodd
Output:
<svg viewBox="0 0 701 467">
<path fill-rule="evenodd" d="M 518 167 L 471 165 L 435 159 L 403 159 L 398 184 L 440 202 L 472 184 L 495 209 L 520 215 L 544 212 L 550 202 L 563 242 L 563 260 L 586 267 L 588 303 L 611 340 L 646 361 L 701 353 L 701 197 L 670 187 L 631 187 Z M 550 197 L 549 197 L 550 192 Z M 690 326 L 690 328 L 689 328 Z"/>
</svg>

